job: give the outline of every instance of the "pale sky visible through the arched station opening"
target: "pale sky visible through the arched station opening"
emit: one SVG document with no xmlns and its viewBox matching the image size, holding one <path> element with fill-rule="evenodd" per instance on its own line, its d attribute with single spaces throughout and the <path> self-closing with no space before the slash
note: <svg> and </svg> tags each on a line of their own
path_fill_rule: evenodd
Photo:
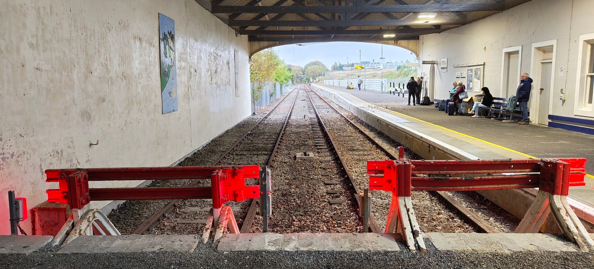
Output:
<svg viewBox="0 0 594 269">
<path fill-rule="evenodd" d="M 287 64 L 299 65 L 303 67 L 311 61 L 321 61 L 330 68 L 332 64 L 339 61 L 346 64 L 349 62 L 359 62 L 359 52 L 361 50 L 361 61 L 380 61 L 382 55 L 382 45 L 367 42 L 328 42 L 328 43 L 304 43 L 305 46 L 283 45 L 274 47 L 279 53 L 281 59 Z M 383 56 L 386 62 L 401 62 L 409 60 L 415 62 L 415 55 L 409 50 L 397 46 L 383 45 Z"/>
</svg>

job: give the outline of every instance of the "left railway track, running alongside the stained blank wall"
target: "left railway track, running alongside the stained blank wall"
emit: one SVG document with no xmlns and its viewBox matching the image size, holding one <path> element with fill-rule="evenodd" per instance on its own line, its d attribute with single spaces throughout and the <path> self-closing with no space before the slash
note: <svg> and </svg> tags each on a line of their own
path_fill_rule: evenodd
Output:
<svg viewBox="0 0 594 269">
<path fill-rule="evenodd" d="M 285 100 L 289 97 L 292 97 L 292 102 L 289 106 L 285 103 Z M 270 107 L 264 112 L 262 118 L 257 121 L 251 128 L 248 129 L 228 150 L 225 151 L 217 160 L 215 160 L 211 166 L 220 166 L 220 165 L 236 165 L 236 164 L 260 164 L 260 165 L 267 165 L 269 166 L 274 156 L 276 154 L 277 148 L 279 147 L 280 141 L 282 140 L 282 135 L 286 127 L 286 123 L 289 119 L 290 113 L 293 110 L 293 105 L 295 104 L 295 100 L 297 98 L 297 94 L 293 94 L 292 92 L 286 94 L 276 105 Z M 280 125 L 280 126 L 279 126 Z M 280 128 L 279 128 L 280 127 Z M 200 185 L 208 185 L 205 180 L 195 179 L 190 183 L 190 186 L 200 186 Z M 246 183 L 255 183 L 258 182 L 246 182 Z M 153 213 L 148 219 L 143 221 L 143 223 L 137 227 L 137 229 L 132 232 L 133 235 L 144 235 L 151 232 L 154 227 L 162 223 L 163 220 L 166 219 L 169 213 L 173 211 L 175 208 L 181 207 L 181 203 L 184 200 L 172 200 L 169 201 L 165 207 L 160 208 L 155 213 Z M 198 205 L 194 207 L 189 207 L 186 205 L 186 210 L 188 216 L 197 215 L 195 218 L 192 219 L 184 218 L 183 220 L 174 220 L 178 224 L 182 225 L 191 225 L 195 226 L 196 223 L 203 223 L 203 215 L 207 212 L 204 210 L 204 201 L 195 201 L 195 204 Z M 241 205 L 239 205 L 241 206 Z M 233 207 L 233 206 L 232 206 Z M 238 205 L 235 205 L 235 210 L 238 210 Z M 250 201 L 249 209 L 247 211 L 248 216 L 255 215 L 255 200 Z M 248 217 L 249 219 L 249 217 Z M 238 224 L 242 224 L 241 232 L 249 230 L 251 228 L 251 221 L 242 221 L 242 219 L 238 220 Z"/>
</svg>

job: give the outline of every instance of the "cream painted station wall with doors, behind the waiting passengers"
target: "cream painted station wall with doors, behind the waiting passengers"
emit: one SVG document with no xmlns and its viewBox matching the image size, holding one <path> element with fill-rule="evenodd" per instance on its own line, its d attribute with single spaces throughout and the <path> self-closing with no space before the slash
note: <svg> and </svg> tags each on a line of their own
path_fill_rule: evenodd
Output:
<svg viewBox="0 0 594 269">
<path fill-rule="evenodd" d="M 522 46 L 521 70 L 535 78 L 538 68 L 532 68 L 532 43 L 557 40 L 554 55 L 554 83 L 551 94 L 551 114 L 586 118 L 574 113 L 576 97 L 576 68 L 580 64 L 578 41 L 582 34 L 594 33 L 594 1 L 591 0 L 533 0 L 510 10 L 492 15 L 474 23 L 421 36 L 419 57 L 423 60 L 448 58 L 448 72 L 437 73 L 436 99 L 448 97 L 451 81 L 456 79 L 453 65 L 485 63 L 484 86 L 495 97 L 504 96 L 502 88 L 502 55 L 505 48 Z M 558 69 L 565 67 L 565 76 Z M 422 72 L 429 66 L 423 65 Z M 519 81 L 518 81 L 519 83 Z M 533 84 L 530 110 L 536 109 L 538 81 Z M 559 100 L 560 89 L 567 89 L 567 100 Z M 545 93 L 543 93 L 545 94 Z M 473 95 L 473 94 L 470 94 Z M 535 116 L 531 112 L 530 119 Z M 591 119 L 591 118 L 590 118 Z"/>
</svg>

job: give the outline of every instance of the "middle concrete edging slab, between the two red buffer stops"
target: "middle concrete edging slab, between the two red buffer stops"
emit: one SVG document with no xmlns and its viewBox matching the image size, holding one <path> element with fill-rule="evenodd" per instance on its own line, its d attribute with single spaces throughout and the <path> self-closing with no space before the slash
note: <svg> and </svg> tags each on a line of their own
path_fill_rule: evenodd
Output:
<svg viewBox="0 0 594 269">
<path fill-rule="evenodd" d="M 377 233 L 244 233 L 221 238 L 219 251 L 400 251 L 393 236 Z"/>
</svg>

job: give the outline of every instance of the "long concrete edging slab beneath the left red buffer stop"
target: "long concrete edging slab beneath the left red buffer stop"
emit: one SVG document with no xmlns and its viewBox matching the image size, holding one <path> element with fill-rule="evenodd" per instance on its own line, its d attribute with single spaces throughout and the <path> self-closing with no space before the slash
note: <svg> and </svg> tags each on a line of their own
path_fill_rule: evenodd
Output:
<svg viewBox="0 0 594 269">
<path fill-rule="evenodd" d="M 197 235 L 80 236 L 57 253 L 192 252 L 199 240 Z"/>
</svg>

